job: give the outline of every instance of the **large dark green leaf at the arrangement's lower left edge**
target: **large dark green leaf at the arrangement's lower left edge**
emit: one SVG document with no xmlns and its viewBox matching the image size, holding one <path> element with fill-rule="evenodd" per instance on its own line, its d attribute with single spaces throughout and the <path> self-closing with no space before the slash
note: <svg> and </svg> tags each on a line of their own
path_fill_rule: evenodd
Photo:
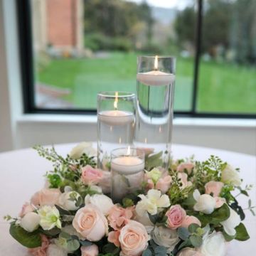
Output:
<svg viewBox="0 0 256 256">
<path fill-rule="evenodd" d="M 19 225 L 11 224 L 9 233 L 15 240 L 25 247 L 35 248 L 41 246 L 41 236 L 37 230 L 30 233 Z"/>
</svg>

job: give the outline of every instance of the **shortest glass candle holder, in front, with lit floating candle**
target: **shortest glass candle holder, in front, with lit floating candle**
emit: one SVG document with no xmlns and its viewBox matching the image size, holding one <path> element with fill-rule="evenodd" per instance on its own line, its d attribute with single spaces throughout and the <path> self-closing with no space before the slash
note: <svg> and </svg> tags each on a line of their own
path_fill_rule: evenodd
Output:
<svg viewBox="0 0 256 256">
<path fill-rule="evenodd" d="M 111 152 L 111 198 L 114 203 L 121 203 L 127 194 L 142 188 L 144 158 L 144 151 L 129 146 Z"/>
</svg>

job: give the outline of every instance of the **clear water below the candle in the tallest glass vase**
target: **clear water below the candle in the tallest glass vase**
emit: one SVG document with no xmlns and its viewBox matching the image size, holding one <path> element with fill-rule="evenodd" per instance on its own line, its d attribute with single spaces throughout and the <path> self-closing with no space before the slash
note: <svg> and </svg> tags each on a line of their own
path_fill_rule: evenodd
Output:
<svg viewBox="0 0 256 256">
<path fill-rule="evenodd" d="M 146 85 L 137 75 L 137 119 L 134 144 L 144 149 L 147 170 L 169 166 L 174 78 L 166 85 Z M 148 161 L 147 161 L 148 160 Z"/>
</svg>

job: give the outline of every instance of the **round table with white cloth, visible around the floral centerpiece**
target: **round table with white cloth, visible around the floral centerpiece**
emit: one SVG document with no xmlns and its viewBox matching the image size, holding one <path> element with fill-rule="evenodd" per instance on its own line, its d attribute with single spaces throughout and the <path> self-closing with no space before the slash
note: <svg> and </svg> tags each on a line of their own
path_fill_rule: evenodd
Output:
<svg viewBox="0 0 256 256">
<path fill-rule="evenodd" d="M 60 144 L 55 146 L 59 154 L 67 154 L 75 144 Z M 250 193 L 252 205 L 256 204 L 256 157 L 238 154 L 220 149 L 208 149 L 198 146 L 174 144 L 172 147 L 174 159 L 194 155 L 198 160 L 206 160 L 213 154 L 219 156 L 234 167 L 240 167 L 240 176 L 245 184 L 253 184 Z M 16 217 L 24 202 L 29 201 L 33 193 L 43 187 L 43 175 L 51 170 L 51 163 L 38 156 L 33 149 L 22 149 L 0 154 L 1 186 L 0 186 L 0 255 L 27 256 L 26 248 L 19 245 L 9 235 L 9 224 L 3 216 L 9 214 Z M 248 198 L 239 196 L 242 208 L 247 208 Z M 256 217 L 247 210 L 246 220 L 243 221 L 250 234 L 250 240 L 238 242 L 233 240 L 228 245 L 228 256 L 252 255 L 256 250 Z"/>
</svg>

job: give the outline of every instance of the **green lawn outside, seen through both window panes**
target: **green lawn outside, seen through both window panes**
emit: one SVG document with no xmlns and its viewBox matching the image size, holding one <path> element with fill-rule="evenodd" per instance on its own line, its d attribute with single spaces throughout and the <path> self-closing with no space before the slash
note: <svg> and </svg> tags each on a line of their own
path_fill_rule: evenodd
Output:
<svg viewBox="0 0 256 256">
<path fill-rule="evenodd" d="M 96 108 L 100 91 L 136 90 L 137 55 L 110 53 L 109 58 L 51 60 L 37 74 L 46 85 L 70 88 L 68 100 L 78 108 Z M 198 110 L 203 112 L 256 112 L 256 68 L 202 63 Z M 178 58 L 175 110 L 190 110 L 193 60 Z"/>
</svg>

